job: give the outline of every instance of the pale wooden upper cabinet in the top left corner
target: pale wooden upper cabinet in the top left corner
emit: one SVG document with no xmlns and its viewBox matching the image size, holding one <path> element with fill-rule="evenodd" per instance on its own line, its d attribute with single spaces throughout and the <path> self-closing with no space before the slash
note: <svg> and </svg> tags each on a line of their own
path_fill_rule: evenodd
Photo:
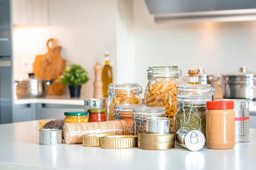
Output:
<svg viewBox="0 0 256 170">
<path fill-rule="evenodd" d="M 49 0 L 13 0 L 13 25 L 48 25 Z"/>
</svg>

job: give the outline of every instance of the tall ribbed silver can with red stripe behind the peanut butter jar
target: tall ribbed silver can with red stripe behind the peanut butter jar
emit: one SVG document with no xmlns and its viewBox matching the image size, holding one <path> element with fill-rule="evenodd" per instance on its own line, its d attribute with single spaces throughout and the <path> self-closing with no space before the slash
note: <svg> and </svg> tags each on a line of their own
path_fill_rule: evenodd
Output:
<svg viewBox="0 0 256 170">
<path fill-rule="evenodd" d="M 234 101 L 236 143 L 249 142 L 249 103 L 246 99 L 220 99 Z"/>
</svg>

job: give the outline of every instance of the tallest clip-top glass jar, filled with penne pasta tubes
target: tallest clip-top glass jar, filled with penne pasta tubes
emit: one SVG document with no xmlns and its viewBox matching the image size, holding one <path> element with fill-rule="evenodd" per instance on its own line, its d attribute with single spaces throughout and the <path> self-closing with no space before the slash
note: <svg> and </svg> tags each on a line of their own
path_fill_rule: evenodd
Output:
<svg viewBox="0 0 256 170">
<path fill-rule="evenodd" d="M 171 118 L 177 112 L 177 85 L 181 70 L 178 66 L 148 67 L 148 84 L 145 91 L 144 103 L 147 106 L 165 107 L 166 117 Z"/>
</svg>

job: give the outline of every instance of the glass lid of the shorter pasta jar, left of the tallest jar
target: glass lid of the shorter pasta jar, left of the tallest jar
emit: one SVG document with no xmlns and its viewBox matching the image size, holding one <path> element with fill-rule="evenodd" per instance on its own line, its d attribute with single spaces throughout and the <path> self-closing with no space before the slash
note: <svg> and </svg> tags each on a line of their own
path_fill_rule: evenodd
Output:
<svg viewBox="0 0 256 170">
<path fill-rule="evenodd" d="M 115 90 L 120 90 L 120 92 L 115 92 Z M 115 94 L 139 94 L 142 93 L 142 88 L 138 83 L 110 83 L 108 91 L 114 91 Z"/>
</svg>

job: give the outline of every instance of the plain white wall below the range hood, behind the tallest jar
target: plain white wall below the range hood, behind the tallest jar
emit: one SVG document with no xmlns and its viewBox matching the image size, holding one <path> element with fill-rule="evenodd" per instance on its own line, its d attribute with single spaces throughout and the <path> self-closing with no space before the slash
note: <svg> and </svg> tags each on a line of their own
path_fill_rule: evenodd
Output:
<svg viewBox="0 0 256 170">
<path fill-rule="evenodd" d="M 236 72 L 244 65 L 256 72 L 256 22 L 155 24 L 144 0 L 133 0 L 133 16 L 134 81 L 144 88 L 148 66 L 177 65 L 183 75 L 199 67 L 215 75 Z"/>
</svg>

